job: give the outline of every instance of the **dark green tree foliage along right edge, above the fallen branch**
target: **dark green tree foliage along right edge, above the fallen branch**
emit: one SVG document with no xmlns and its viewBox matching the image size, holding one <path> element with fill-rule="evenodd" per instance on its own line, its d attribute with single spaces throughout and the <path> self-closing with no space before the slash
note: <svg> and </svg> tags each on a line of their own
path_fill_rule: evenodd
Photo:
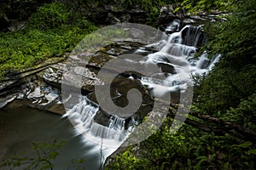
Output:
<svg viewBox="0 0 256 170">
<path fill-rule="evenodd" d="M 199 96 L 197 105 L 201 111 L 215 113 L 215 116 L 220 117 L 224 117 L 224 114 L 233 114 L 236 117 L 229 116 L 229 119 L 236 119 L 236 122 L 240 119 L 241 124 L 246 123 L 242 121 L 244 119 L 241 115 L 252 117 L 255 114 L 255 108 L 241 110 L 246 109 L 244 105 L 255 105 L 252 103 L 255 102 L 252 98 L 255 98 L 253 94 L 256 84 L 255 5 L 255 1 L 237 1 L 232 8 L 234 14 L 231 14 L 227 21 L 212 25 L 213 29 L 207 30 L 215 32 L 209 34 L 212 37 L 207 44 L 208 51 L 212 54 L 222 54 L 222 58 L 211 74 L 201 78 L 200 86 L 196 90 Z M 249 99 L 251 102 L 241 103 L 241 100 L 247 100 L 249 96 L 252 96 Z M 235 111 L 240 103 L 240 109 Z M 233 109 L 227 111 L 230 107 Z"/>
</svg>

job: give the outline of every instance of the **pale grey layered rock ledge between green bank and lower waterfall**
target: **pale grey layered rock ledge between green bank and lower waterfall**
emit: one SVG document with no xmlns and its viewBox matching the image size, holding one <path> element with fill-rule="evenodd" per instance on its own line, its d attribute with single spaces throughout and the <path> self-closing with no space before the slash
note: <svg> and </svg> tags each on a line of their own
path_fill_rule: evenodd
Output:
<svg viewBox="0 0 256 170">
<path fill-rule="evenodd" d="M 49 68 L 40 72 L 38 77 L 55 88 L 61 88 L 61 77 L 63 76 L 64 82 L 67 83 L 65 85 L 70 88 L 82 88 L 83 93 L 88 94 L 94 91 L 96 85 L 103 84 L 96 76 L 103 65 L 121 54 L 132 53 L 140 46 L 142 44 L 139 42 L 116 42 L 101 48 L 91 56 L 90 60 L 86 59 L 85 54 L 72 55 L 72 58 L 66 63 L 50 65 Z"/>
</svg>

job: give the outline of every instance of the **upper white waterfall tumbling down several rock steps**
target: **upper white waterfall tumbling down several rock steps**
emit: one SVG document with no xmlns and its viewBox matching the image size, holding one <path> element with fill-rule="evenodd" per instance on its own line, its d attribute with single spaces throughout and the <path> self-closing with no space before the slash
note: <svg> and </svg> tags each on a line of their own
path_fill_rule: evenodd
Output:
<svg viewBox="0 0 256 170">
<path fill-rule="evenodd" d="M 167 36 L 161 43 L 148 45 L 148 47 L 156 45 L 160 50 L 148 54 L 145 64 L 161 64 L 170 69 L 166 71 L 167 69 L 160 65 L 161 70 L 168 73 L 165 80 L 143 77 L 141 82 L 151 89 L 151 94 L 155 97 L 177 91 L 183 92 L 189 84 L 193 84 L 191 75 L 207 74 L 218 62 L 219 54 L 211 61 L 207 58 L 207 53 L 195 59 L 198 43 L 205 42 L 206 38 L 201 27 L 185 26 L 181 31 Z"/>
</svg>

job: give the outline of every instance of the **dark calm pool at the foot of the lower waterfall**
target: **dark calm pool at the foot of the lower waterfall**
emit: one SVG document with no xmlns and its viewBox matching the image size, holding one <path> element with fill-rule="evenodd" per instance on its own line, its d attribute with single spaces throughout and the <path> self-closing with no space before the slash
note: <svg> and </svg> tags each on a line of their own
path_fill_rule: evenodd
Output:
<svg viewBox="0 0 256 170">
<path fill-rule="evenodd" d="M 100 150 L 75 136 L 68 119 L 59 115 L 27 107 L 28 101 L 15 100 L 0 110 L 0 163 L 18 155 L 30 153 L 32 142 L 64 139 L 67 144 L 53 162 L 54 169 L 77 169 L 73 159 L 85 160 L 83 169 L 99 169 Z M 1 169 L 1 167 L 0 167 Z M 3 168 L 9 169 L 9 168 Z M 15 168 L 15 169 L 22 169 Z"/>
</svg>

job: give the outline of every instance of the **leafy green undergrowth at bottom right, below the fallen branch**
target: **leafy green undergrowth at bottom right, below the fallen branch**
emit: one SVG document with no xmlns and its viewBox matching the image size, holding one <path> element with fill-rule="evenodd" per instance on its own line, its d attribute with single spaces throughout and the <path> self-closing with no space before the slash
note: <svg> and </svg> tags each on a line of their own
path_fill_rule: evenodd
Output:
<svg viewBox="0 0 256 170">
<path fill-rule="evenodd" d="M 251 144 L 232 146 L 232 140 L 225 136 L 186 125 L 171 134 L 165 126 L 116 156 L 106 169 L 253 169 L 255 156 L 245 152 Z"/>
</svg>

